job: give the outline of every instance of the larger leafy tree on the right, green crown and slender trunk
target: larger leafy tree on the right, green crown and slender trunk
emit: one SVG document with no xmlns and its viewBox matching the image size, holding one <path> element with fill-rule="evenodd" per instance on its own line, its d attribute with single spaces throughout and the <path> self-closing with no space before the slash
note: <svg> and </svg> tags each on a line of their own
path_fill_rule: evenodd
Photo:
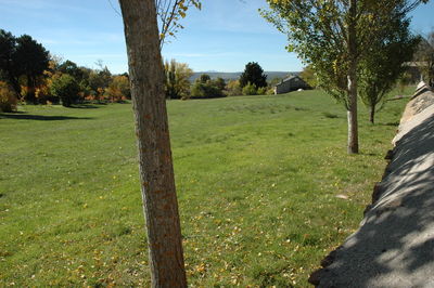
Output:
<svg viewBox="0 0 434 288">
<path fill-rule="evenodd" d="M 318 84 L 348 115 L 348 153 L 358 153 L 357 69 L 391 22 L 426 0 L 267 0 L 261 15 L 288 36 L 288 50 L 316 71 Z"/>
</svg>

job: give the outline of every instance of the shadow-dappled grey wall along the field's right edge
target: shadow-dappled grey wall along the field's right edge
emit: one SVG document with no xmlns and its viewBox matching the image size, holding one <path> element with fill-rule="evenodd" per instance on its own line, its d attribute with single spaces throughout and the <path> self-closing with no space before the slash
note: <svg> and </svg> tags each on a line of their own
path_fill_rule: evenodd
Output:
<svg viewBox="0 0 434 288">
<path fill-rule="evenodd" d="M 357 232 L 309 282 L 318 287 L 434 287 L 434 93 L 408 103 L 390 163 Z"/>
</svg>

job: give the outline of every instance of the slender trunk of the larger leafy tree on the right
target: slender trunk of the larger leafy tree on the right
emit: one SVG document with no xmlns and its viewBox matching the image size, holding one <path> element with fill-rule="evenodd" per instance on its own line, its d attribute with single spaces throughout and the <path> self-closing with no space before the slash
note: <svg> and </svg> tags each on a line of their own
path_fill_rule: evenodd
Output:
<svg viewBox="0 0 434 288">
<path fill-rule="evenodd" d="M 349 3 L 349 25 L 348 25 L 348 154 L 359 153 L 358 122 L 357 122 L 357 35 L 356 16 L 357 0 Z"/>
</svg>

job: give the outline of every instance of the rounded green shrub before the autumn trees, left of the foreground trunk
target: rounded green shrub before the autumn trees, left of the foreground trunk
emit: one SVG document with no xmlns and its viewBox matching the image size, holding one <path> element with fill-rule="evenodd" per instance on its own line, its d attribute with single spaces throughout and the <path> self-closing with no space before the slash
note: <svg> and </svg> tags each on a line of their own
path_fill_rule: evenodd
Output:
<svg viewBox="0 0 434 288">
<path fill-rule="evenodd" d="M 51 93 L 62 101 L 62 105 L 69 107 L 78 101 L 80 86 L 71 75 L 64 74 L 53 79 L 51 83 Z"/>
</svg>

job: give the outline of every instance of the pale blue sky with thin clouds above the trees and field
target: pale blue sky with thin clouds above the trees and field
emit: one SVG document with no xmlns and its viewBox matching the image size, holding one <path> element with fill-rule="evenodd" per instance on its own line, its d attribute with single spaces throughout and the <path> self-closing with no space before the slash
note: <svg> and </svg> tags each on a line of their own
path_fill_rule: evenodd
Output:
<svg viewBox="0 0 434 288">
<path fill-rule="evenodd" d="M 118 10 L 117 0 L 111 0 Z M 195 71 L 240 71 L 247 62 L 265 70 L 296 71 L 303 64 L 284 49 L 286 37 L 257 12 L 265 0 L 203 0 L 191 10 L 176 39 L 163 49 L 165 58 L 188 63 Z M 0 0 L 0 28 L 28 34 L 52 54 L 113 73 L 127 70 L 122 18 L 108 0 Z M 434 2 L 412 12 L 412 30 L 434 29 Z"/>
</svg>

